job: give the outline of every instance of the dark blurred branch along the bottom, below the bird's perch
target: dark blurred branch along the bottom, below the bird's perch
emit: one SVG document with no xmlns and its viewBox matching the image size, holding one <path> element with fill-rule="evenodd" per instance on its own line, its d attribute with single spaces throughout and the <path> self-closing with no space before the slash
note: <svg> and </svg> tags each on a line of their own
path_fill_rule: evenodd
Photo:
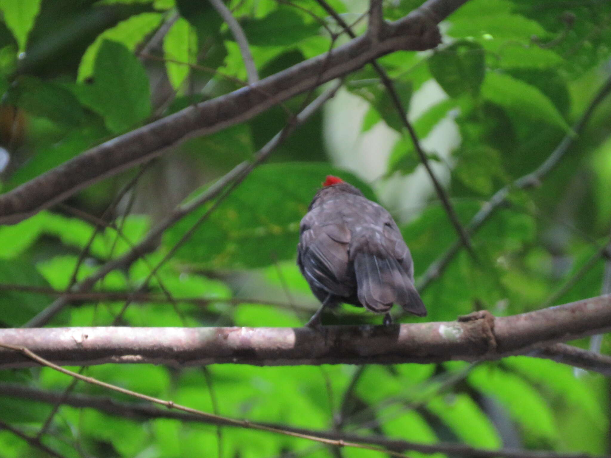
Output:
<svg viewBox="0 0 611 458">
<path fill-rule="evenodd" d="M 222 426 L 235 426 L 222 420 L 203 418 L 200 415 L 180 412 L 169 409 L 159 409 L 154 405 L 143 402 L 121 402 L 110 396 L 99 396 L 90 394 L 65 394 L 60 391 L 40 390 L 38 388 L 26 387 L 18 383 L 1 383 L 0 397 L 29 399 L 31 401 L 46 402 L 49 404 L 65 404 L 78 408 L 96 409 L 108 415 L 131 418 L 134 420 L 149 420 L 153 418 L 172 418 L 180 421 L 192 421 L 205 424 L 219 424 Z M 556 453 L 543 450 L 520 450 L 520 449 L 483 449 L 474 448 L 461 443 L 440 442 L 424 444 L 402 439 L 393 439 L 380 435 L 364 435 L 343 431 L 318 431 L 291 427 L 285 424 L 263 423 L 274 429 L 297 432 L 299 434 L 324 437 L 328 439 L 343 440 L 357 443 L 381 445 L 387 449 L 398 452 L 418 451 L 421 453 L 447 453 L 452 456 L 469 456 L 477 458 L 587 458 L 582 453 Z"/>
</svg>

